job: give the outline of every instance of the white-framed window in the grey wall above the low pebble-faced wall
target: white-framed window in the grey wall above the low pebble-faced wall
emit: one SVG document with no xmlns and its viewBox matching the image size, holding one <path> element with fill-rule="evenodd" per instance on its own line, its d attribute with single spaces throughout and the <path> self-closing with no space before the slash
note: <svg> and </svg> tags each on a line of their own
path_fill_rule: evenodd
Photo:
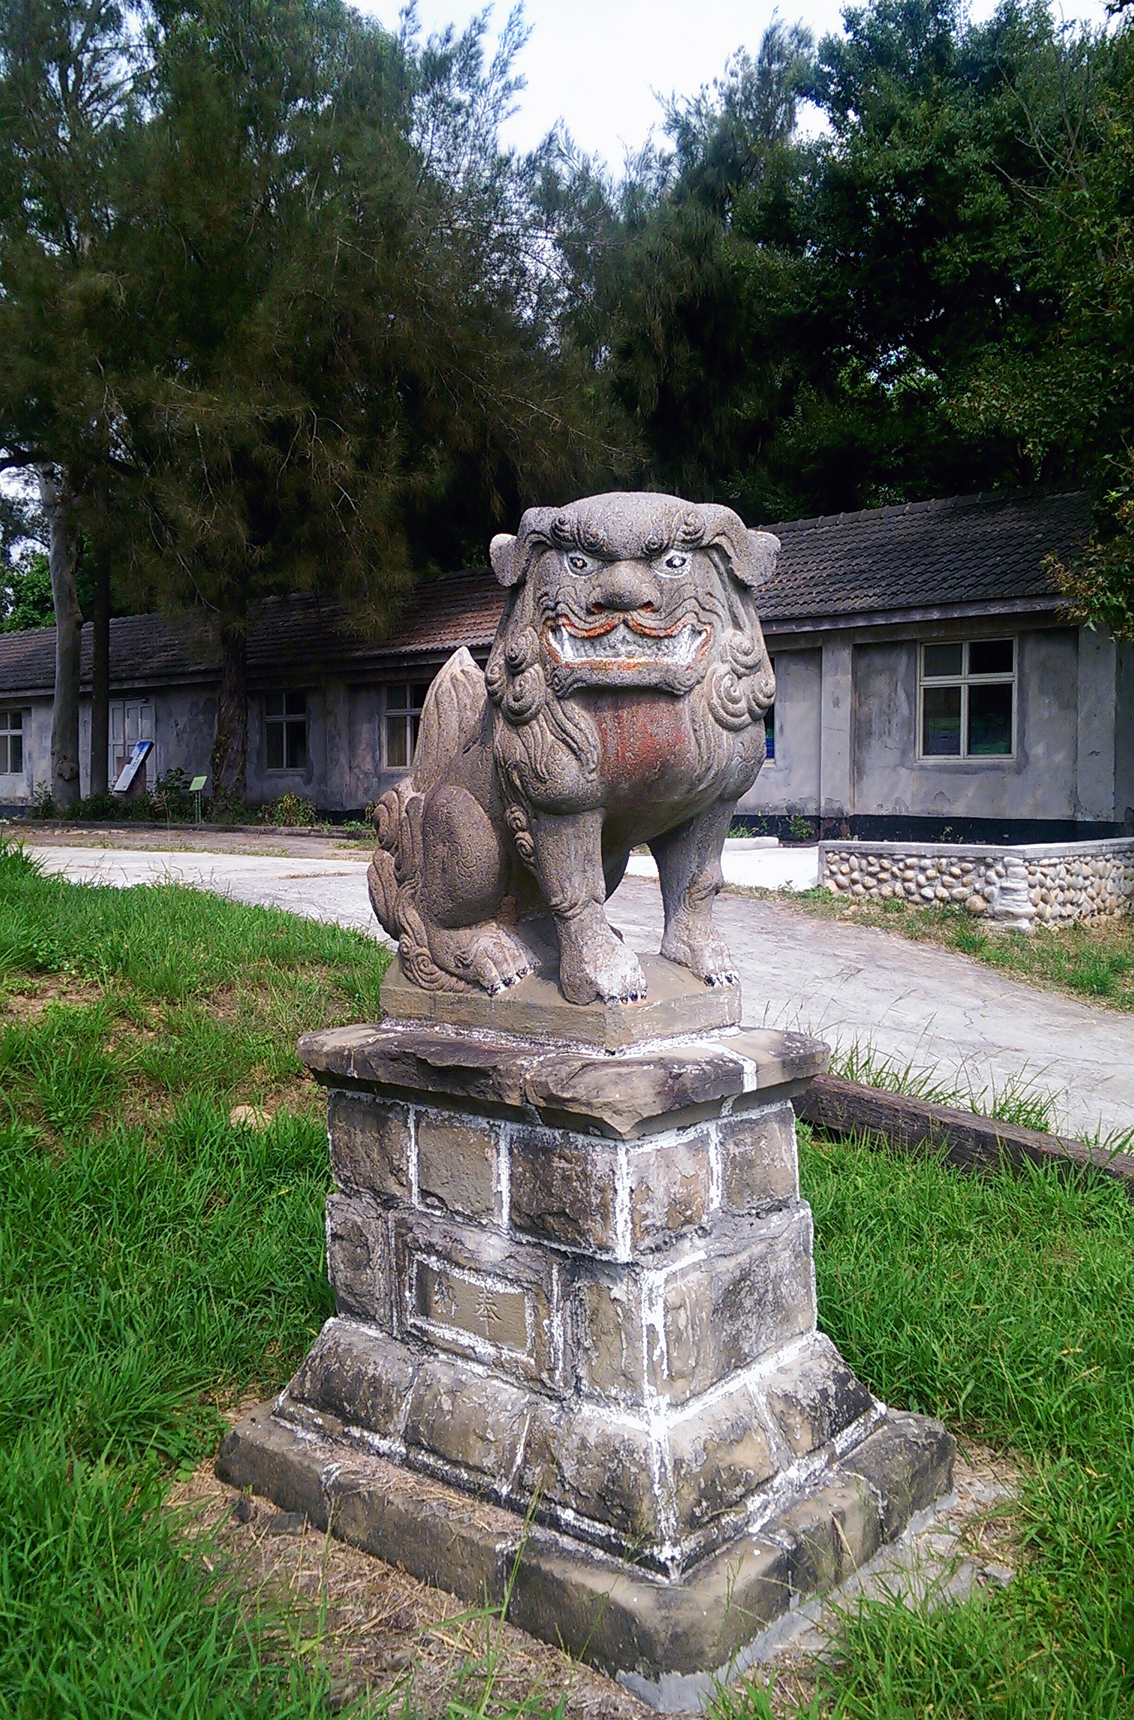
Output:
<svg viewBox="0 0 1134 1720">
<path fill-rule="evenodd" d="M 1015 640 L 921 647 L 919 757 L 1015 755 Z"/>
</svg>

